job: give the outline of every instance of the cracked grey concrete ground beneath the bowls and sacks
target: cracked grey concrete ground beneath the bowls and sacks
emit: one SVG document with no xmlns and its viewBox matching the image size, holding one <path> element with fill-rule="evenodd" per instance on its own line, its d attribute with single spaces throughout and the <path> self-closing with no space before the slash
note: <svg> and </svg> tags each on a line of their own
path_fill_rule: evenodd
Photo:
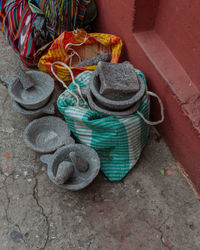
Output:
<svg viewBox="0 0 200 250">
<path fill-rule="evenodd" d="M 14 75 L 18 64 L 1 34 L 0 75 Z M 100 173 L 80 192 L 63 191 L 26 147 L 29 121 L 0 83 L 0 250 L 200 249 L 199 200 L 155 130 L 123 181 Z"/>
</svg>

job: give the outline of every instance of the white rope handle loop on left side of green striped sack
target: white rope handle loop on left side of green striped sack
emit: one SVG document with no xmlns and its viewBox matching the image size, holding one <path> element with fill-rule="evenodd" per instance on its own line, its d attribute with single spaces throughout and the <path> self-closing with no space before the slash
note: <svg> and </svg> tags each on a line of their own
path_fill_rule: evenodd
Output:
<svg viewBox="0 0 200 250">
<path fill-rule="evenodd" d="M 61 79 L 56 75 L 56 73 L 55 73 L 55 71 L 54 71 L 54 69 L 53 69 L 53 66 L 54 66 L 55 64 L 62 65 L 63 67 L 65 67 L 66 69 L 69 70 L 69 73 L 70 73 L 71 78 L 72 78 L 72 82 L 73 82 L 73 84 L 77 87 L 78 93 L 79 93 L 81 99 L 83 100 L 83 102 L 85 103 L 85 99 L 84 99 L 83 96 L 82 96 L 82 93 L 81 93 L 81 90 L 80 90 L 80 86 L 75 82 L 74 75 L 73 75 L 73 72 L 72 72 L 72 70 L 70 69 L 70 67 L 69 67 L 68 65 L 66 65 L 65 63 L 63 63 L 63 62 L 53 62 L 52 65 L 51 65 L 51 72 L 53 73 L 53 75 L 55 76 L 55 78 L 56 78 L 59 82 L 62 83 L 63 87 L 66 88 L 67 91 L 68 91 L 72 96 L 75 97 L 75 99 L 76 99 L 76 101 L 77 101 L 77 106 L 79 106 L 79 98 L 78 98 L 78 96 L 77 96 L 74 92 L 72 92 L 72 91 L 67 87 L 67 85 L 65 84 L 65 82 L 64 82 L 63 80 L 61 80 Z"/>
</svg>

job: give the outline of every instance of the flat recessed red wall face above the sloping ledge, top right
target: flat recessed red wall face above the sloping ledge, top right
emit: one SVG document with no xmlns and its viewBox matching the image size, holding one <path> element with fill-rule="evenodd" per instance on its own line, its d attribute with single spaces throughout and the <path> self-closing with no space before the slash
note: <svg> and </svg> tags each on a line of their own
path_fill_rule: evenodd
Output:
<svg viewBox="0 0 200 250">
<path fill-rule="evenodd" d="M 161 0 L 155 30 L 200 88 L 199 11 L 199 0 Z"/>
</svg>

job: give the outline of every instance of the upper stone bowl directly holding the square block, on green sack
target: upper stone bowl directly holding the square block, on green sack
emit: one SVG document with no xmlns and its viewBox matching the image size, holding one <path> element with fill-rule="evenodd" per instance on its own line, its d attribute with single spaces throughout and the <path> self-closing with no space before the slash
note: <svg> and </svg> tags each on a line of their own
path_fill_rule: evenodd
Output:
<svg viewBox="0 0 200 250">
<path fill-rule="evenodd" d="M 125 110 L 133 106 L 135 103 L 137 103 L 145 94 L 146 91 L 146 85 L 142 79 L 141 76 L 138 76 L 138 81 L 140 84 L 140 89 L 135 94 L 123 94 L 123 93 L 117 93 L 116 95 L 113 93 L 111 96 L 111 99 L 108 99 L 104 96 L 102 96 L 99 93 L 100 90 L 100 80 L 98 76 L 98 71 L 94 71 L 93 75 L 90 79 L 90 90 L 92 94 L 95 96 L 95 98 L 98 100 L 99 103 L 103 104 L 105 107 L 107 107 L 110 110 Z M 114 100 L 115 99 L 115 100 Z"/>
</svg>

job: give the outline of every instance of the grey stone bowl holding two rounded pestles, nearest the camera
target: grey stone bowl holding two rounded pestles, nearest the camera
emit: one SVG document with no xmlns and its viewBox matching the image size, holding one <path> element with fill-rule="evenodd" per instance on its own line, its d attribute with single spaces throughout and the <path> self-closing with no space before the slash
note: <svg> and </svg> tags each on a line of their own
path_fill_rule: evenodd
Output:
<svg viewBox="0 0 200 250">
<path fill-rule="evenodd" d="M 58 184 L 56 182 L 56 173 L 58 165 L 63 161 L 70 161 L 69 153 L 77 152 L 80 157 L 89 163 L 86 172 L 80 172 L 74 168 L 73 176 L 65 183 Z M 100 159 L 96 151 L 88 146 L 81 144 L 73 144 L 59 148 L 52 155 L 42 155 L 40 160 L 48 165 L 47 174 L 49 179 L 58 187 L 77 191 L 88 186 L 98 175 L 100 170 Z"/>
</svg>

